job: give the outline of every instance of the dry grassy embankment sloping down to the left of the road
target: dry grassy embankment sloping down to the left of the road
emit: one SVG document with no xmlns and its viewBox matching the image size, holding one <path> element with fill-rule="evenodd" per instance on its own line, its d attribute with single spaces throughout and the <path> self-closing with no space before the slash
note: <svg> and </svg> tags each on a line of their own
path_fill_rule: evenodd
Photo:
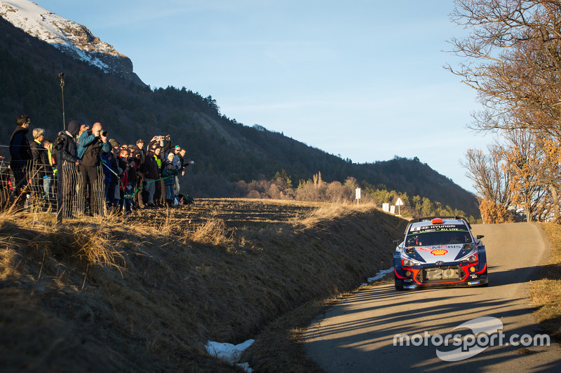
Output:
<svg viewBox="0 0 561 373">
<path fill-rule="evenodd" d="M 198 200 L 122 218 L 0 217 L 3 371 L 231 371 L 239 343 L 391 267 L 405 222 L 369 206 Z"/>
</svg>

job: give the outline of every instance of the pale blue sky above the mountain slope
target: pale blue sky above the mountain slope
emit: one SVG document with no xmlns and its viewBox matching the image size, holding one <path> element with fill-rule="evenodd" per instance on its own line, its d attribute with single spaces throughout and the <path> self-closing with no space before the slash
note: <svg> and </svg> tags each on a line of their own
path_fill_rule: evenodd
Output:
<svg viewBox="0 0 561 373">
<path fill-rule="evenodd" d="M 130 57 L 151 87 L 211 95 L 229 118 L 356 163 L 419 157 L 473 190 L 459 162 L 492 141 L 466 127 L 475 91 L 442 68 L 465 32 L 452 1 L 36 3 Z"/>
</svg>

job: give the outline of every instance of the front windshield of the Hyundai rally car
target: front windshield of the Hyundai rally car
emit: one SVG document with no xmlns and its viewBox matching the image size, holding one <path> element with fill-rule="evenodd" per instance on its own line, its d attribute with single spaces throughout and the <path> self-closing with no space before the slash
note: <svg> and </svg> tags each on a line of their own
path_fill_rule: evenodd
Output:
<svg viewBox="0 0 561 373">
<path fill-rule="evenodd" d="M 468 244 L 471 234 L 466 226 L 427 226 L 412 229 L 405 239 L 405 246 L 435 246 L 449 244 Z"/>
</svg>

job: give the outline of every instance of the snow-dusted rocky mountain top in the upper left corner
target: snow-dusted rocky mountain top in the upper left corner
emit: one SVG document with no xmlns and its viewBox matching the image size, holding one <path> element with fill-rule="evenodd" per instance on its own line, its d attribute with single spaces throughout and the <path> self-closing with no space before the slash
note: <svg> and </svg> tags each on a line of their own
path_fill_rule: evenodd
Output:
<svg viewBox="0 0 561 373">
<path fill-rule="evenodd" d="M 27 34 L 50 43 L 105 73 L 140 80 L 133 73 L 130 59 L 94 36 L 82 24 L 60 17 L 28 0 L 1 0 L 0 16 Z"/>
</svg>

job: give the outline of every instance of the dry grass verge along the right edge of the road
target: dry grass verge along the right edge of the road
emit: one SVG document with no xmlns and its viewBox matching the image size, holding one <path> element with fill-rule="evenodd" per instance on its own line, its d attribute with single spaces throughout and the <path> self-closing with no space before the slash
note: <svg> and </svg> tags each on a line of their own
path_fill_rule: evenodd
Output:
<svg viewBox="0 0 561 373">
<path fill-rule="evenodd" d="M 534 316 L 543 330 L 561 340 L 561 225 L 541 224 L 551 244 L 551 259 L 541 270 L 541 279 L 532 281 L 530 299 Z"/>
</svg>

